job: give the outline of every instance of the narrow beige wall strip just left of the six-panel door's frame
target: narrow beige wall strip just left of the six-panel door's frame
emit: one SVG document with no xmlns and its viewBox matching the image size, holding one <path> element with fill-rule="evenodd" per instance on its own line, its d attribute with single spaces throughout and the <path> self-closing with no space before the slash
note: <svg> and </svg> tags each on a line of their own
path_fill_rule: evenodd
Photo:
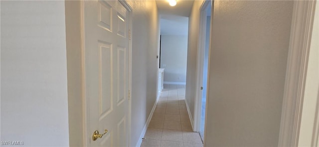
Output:
<svg viewBox="0 0 319 147">
<path fill-rule="evenodd" d="M 81 1 L 65 0 L 65 32 L 68 77 L 68 110 L 70 147 L 83 147 L 84 77 L 82 68 Z"/>
</svg>

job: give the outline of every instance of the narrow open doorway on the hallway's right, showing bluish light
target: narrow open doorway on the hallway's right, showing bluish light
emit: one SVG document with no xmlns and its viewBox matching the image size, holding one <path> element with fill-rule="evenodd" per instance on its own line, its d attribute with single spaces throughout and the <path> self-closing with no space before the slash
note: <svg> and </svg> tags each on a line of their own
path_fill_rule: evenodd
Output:
<svg viewBox="0 0 319 147">
<path fill-rule="evenodd" d="M 210 24 L 211 24 L 212 1 L 205 0 L 200 9 L 199 42 L 197 54 L 197 87 L 196 104 L 194 113 L 194 130 L 199 132 L 204 140 L 207 75 L 210 48 Z"/>
</svg>

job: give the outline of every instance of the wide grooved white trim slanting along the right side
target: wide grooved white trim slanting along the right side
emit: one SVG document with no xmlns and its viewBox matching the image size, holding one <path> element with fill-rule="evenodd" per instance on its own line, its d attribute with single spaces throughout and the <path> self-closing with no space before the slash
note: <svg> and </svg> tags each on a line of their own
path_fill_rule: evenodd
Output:
<svg viewBox="0 0 319 147">
<path fill-rule="evenodd" d="M 294 1 L 279 147 L 298 146 L 315 3 Z"/>
</svg>

